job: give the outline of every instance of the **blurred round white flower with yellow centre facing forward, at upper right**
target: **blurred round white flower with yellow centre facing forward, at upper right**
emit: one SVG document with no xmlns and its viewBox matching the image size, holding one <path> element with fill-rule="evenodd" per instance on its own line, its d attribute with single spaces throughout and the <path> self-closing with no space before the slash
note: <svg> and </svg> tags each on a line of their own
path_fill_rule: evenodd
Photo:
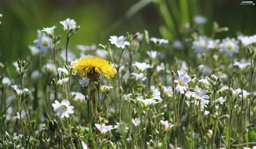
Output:
<svg viewBox="0 0 256 149">
<path fill-rule="evenodd" d="M 232 56 L 233 53 L 238 53 L 239 46 L 237 40 L 234 38 L 230 39 L 228 37 L 223 39 L 220 43 L 220 52 L 224 52 L 227 56 Z"/>
</svg>

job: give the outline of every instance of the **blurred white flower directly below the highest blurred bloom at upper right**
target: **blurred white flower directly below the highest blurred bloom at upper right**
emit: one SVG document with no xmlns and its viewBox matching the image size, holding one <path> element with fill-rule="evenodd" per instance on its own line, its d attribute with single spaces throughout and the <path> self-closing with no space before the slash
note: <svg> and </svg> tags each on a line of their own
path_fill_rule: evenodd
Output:
<svg viewBox="0 0 256 149">
<path fill-rule="evenodd" d="M 198 40 L 192 43 L 192 48 L 198 53 L 204 53 L 208 50 L 208 41 L 210 39 L 205 36 L 199 36 Z"/>
</svg>

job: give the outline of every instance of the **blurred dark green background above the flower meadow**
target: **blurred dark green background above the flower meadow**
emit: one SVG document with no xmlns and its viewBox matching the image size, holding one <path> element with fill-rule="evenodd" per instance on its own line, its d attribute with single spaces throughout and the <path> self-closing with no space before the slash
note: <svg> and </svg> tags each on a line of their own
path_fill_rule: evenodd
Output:
<svg viewBox="0 0 256 149">
<path fill-rule="evenodd" d="M 59 21 L 75 19 L 80 30 L 71 38 L 70 49 L 77 44 L 105 44 L 110 35 L 125 35 L 148 30 L 151 37 L 169 40 L 178 36 L 186 22 L 193 24 L 195 15 L 208 21 L 205 34 L 210 36 L 212 22 L 230 30 L 217 38 L 236 37 L 240 31 L 255 34 L 256 5 L 240 5 L 239 0 L 0 0 L 0 62 L 14 62 L 30 55 L 28 45 L 37 38 L 37 29 L 57 25 L 61 35 L 60 46 L 65 44 L 65 31 Z M 178 30 L 178 32 L 177 32 Z"/>
</svg>

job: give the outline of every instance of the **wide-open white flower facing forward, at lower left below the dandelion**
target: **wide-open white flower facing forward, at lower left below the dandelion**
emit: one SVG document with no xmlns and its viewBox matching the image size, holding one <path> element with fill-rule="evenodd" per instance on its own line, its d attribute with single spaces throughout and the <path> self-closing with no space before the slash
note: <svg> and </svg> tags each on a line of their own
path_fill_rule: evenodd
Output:
<svg viewBox="0 0 256 149">
<path fill-rule="evenodd" d="M 63 99 L 61 103 L 59 101 L 55 100 L 55 103 L 52 104 L 53 111 L 56 112 L 57 116 L 60 116 L 61 118 L 68 118 L 69 114 L 73 114 L 74 107 L 69 104 L 69 101 L 66 99 Z"/>
</svg>

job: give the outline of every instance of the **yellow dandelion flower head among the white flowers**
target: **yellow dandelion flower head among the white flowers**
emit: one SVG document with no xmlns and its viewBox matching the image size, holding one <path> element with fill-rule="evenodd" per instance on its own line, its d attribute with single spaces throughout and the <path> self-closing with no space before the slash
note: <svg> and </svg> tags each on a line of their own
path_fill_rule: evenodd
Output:
<svg viewBox="0 0 256 149">
<path fill-rule="evenodd" d="M 80 76 L 88 77 L 88 75 L 94 75 L 96 78 L 99 75 L 105 76 L 110 79 L 116 74 L 114 66 L 107 60 L 100 57 L 86 57 L 79 58 L 71 62 L 73 73 L 78 73 Z"/>
</svg>

